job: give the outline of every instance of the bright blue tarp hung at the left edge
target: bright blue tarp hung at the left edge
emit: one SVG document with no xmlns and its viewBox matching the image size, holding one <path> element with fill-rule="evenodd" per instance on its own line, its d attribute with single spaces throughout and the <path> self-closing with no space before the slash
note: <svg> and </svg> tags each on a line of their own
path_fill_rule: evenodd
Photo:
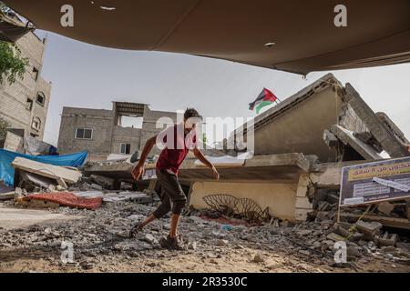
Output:
<svg viewBox="0 0 410 291">
<path fill-rule="evenodd" d="M 66 156 L 29 156 L 0 149 L 0 181 L 4 181 L 7 186 L 14 186 L 15 168 L 11 164 L 17 156 L 54 166 L 77 167 L 84 165 L 87 155 L 87 152 L 81 152 Z"/>
</svg>

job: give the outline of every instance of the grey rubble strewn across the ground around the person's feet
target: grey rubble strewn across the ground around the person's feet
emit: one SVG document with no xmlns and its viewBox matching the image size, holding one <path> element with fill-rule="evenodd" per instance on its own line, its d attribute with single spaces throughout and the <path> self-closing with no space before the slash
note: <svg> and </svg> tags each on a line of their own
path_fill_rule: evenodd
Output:
<svg viewBox="0 0 410 291">
<path fill-rule="evenodd" d="M 0 228 L 0 251 L 42 250 L 49 264 L 65 268 L 67 266 L 59 259 L 61 244 L 63 241 L 70 242 L 75 247 L 76 256 L 76 263 L 72 266 L 83 270 L 92 270 L 96 265 L 114 261 L 117 263 L 112 264 L 120 264 L 118 262 L 132 261 L 135 257 L 152 259 L 174 256 L 172 252 L 161 249 L 158 243 L 161 236 L 169 233 L 169 216 L 147 226 L 137 238 L 128 237 L 129 229 L 154 209 L 155 206 L 128 201 L 105 204 L 93 211 L 69 207 L 50 209 L 53 213 L 79 218 L 69 223 L 42 224 L 25 229 Z M 246 223 L 241 225 L 239 221 L 229 225 L 229 219 L 225 218 L 222 225 L 200 217 L 205 218 L 209 213 L 191 211 L 190 216 L 181 218 L 179 233 L 185 247 L 182 253 L 218 264 L 219 258 L 230 256 L 231 252 L 252 249 L 257 251 L 257 255 L 252 253 L 243 259 L 260 264 L 266 271 L 268 266 L 265 266 L 263 252 L 284 253 L 317 265 L 337 266 L 333 259 L 336 251 L 334 243 L 344 240 L 341 228 L 346 230 L 351 227 L 335 224 L 328 219 L 315 219 L 298 225 L 272 220 L 272 223 L 261 226 L 249 226 Z M 353 238 L 346 241 L 348 262 L 354 264 L 352 267 L 358 269 L 357 265 L 374 260 L 384 261 L 391 266 L 409 264 L 410 243 L 405 241 L 405 237 L 395 236 L 395 244 L 385 246 L 373 240 L 386 236 L 381 226 L 358 223 L 356 228 Z"/>
</svg>

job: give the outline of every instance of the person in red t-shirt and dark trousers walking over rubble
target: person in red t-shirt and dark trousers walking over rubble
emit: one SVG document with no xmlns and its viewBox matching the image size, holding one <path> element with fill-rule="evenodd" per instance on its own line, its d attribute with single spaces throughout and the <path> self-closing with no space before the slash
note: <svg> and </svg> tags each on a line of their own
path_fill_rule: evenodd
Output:
<svg viewBox="0 0 410 291">
<path fill-rule="evenodd" d="M 212 164 L 200 152 L 196 140 L 196 125 L 200 123 L 202 116 L 195 109 L 187 109 L 184 114 L 184 121 L 179 125 L 170 126 L 159 135 L 150 138 L 144 146 L 138 165 L 132 170 L 132 176 L 138 180 L 144 173 L 144 164 L 152 147 L 156 144 L 165 144 L 159 160 L 157 162 L 157 177 L 161 186 L 161 204 L 143 222 L 134 226 L 130 231 L 130 236 L 134 237 L 155 219 L 159 219 L 169 211 L 172 211 L 169 236 L 161 238 L 159 244 L 163 247 L 180 249 L 177 237 L 179 216 L 186 206 L 187 196 L 182 191 L 178 181 L 179 166 L 182 164 L 190 150 L 206 166 L 209 166 L 217 180 L 220 175 Z M 172 206 L 171 206 L 172 203 Z"/>
</svg>

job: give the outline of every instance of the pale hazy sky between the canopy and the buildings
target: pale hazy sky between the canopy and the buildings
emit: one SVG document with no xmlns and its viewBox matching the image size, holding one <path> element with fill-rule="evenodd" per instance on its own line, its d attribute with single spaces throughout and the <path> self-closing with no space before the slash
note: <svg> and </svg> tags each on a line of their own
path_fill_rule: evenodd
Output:
<svg viewBox="0 0 410 291">
<path fill-rule="evenodd" d="M 118 50 L 52 33 L 38 35 L 48 40 L 42 76 L 52 82 L 52 92 L 45 141 L 54 146 L 63 106 L 111 109 L 112 101 L 127 101 L 161 111 L 195 107 L 207 117 L 254 117 L 248 104 L 263 87 L 283 100 L 328 73 L 303 79 L 200 56 Z M 410 64 L 331 73 L 354 85 L 374 112 L 384 111 L 410 137 Z"/>
</svg>

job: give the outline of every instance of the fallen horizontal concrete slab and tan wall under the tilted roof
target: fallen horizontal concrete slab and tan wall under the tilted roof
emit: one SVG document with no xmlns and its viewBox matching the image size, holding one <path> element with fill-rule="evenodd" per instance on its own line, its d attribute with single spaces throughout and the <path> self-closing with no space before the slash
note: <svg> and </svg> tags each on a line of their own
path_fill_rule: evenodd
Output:
<svg viewBox="0 0 410 291">
<path fill-rule="evenodd" d="M 306 198 L 308 182 L 306 178 L 301 180 L 301 175 L 311 169 L 310 158 L 302 154 L 266 155 L 245 160 L 243 166 L 217 165 L 220 182 L 214 181 L 210 169 L 197 165 L 195 159 L 189 159 L 180 168 L 179 181 L 190 187 L 190 206 L 196 208 L 208 207 L 204 196 L 227 194 L 251 198 L 263 208 L 269 207 L 272 216 L 303 220 L 312 209 Z M 105 163 L 87 167 L 85 174 L 135 183 L 131 176 L 132 167 L 128 163 Z M 147 166 L 147 169 L 152 168 L 155 165 Z M 303 210 L 302 214 L 298 213 L 298 208 Z"/>
</svg>

